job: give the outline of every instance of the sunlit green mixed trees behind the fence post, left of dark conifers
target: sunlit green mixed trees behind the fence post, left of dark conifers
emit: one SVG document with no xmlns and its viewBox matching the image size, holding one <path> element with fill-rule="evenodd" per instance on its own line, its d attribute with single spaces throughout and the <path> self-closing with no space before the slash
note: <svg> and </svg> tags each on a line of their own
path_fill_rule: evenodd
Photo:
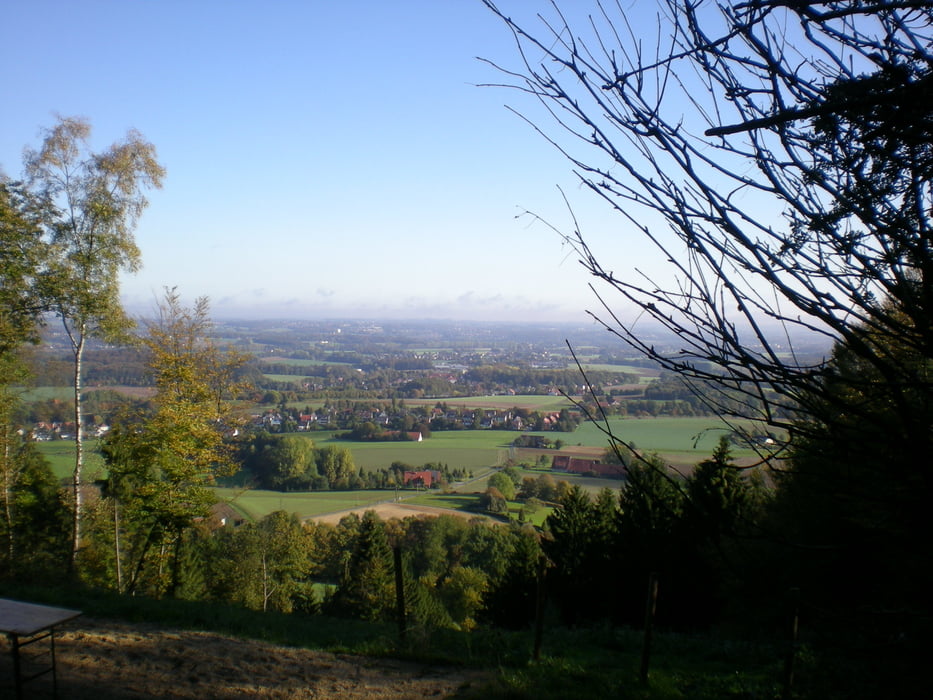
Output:
<svg viewBox="0 0 933 700">
<path fill-rule="evenodd" d="M 393 547 L 402 552 L 412 626 L 514 626 L 533 614 L 540 555 L 533 529 L 455 516 L 385 522 L 373 511 L 336 526 L 277 512 L 238 528 L 193 530 L 182 556 L 199 564 L 185 569 L 174 593 L 257 610 L 390 620 Z"/>
</svg>

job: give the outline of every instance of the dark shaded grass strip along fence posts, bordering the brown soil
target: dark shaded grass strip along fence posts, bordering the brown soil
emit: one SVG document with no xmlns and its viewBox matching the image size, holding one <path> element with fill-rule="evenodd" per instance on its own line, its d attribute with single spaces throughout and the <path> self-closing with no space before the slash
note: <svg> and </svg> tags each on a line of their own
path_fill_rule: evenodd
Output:
<svg viewBox="0 0 933 700">
<path fill-rule="evenodd" d="M 91 617 L 129 623 L 210 631 L 338 653 L 497 670 L 489 684 L 463 689 L 456 696 L 463 700 L 719 700 L 780 695 L 780 664 L 773 648 L 715 637 L 658 633 L 650 681 L 643 684 L 638 676 L 642 635 L 632 629 L 546 627 L 541 658 L 532 661 L 530 631 L 412 628 L 403 642 L 396 626 L 390 623 L 262 613 L 202 601 L 157 601 L 81 586 L 0 584 L 0 595 L 76 608 Z"/>
</svg>

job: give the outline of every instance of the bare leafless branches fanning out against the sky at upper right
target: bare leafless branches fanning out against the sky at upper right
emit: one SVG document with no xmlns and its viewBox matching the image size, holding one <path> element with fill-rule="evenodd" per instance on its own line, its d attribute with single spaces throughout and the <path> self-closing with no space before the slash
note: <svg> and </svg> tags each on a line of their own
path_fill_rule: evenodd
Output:
<svg viewBox="0 0 933 700">
<path fill-rule="evenodd" d="M 527 23 L 484 3 L 518 48 L 498 84 L 549 116 L 516 111 L 618 212 L 625 245 L 668 263 L 664 278 L 620 271 L 565 233 L 598 321 L 711 408 L 797 431 L 815 411 L 871 414 L 827 388 L 832 360 L 795 353 L 818 334 L 929 446 L 910 397 L 933 388 L 931 3 L 659 0 L 649 25 L 619 0 L 552 2 Z M 679 346 L 644 340 L 639 319 Z"/>
</svg>

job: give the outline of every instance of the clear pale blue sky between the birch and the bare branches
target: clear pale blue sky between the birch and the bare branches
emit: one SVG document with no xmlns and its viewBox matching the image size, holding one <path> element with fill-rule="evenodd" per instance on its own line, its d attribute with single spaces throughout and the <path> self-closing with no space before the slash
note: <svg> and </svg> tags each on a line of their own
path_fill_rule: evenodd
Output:
<svg viewBox="0 0 933 700">
<path fill-rule="evenodd" d="M 131 127 L 155 144 L 137 312 L 177 286 L 218 317 L 585 320 L 589 278 L 519 215 L 570 231 L 560 186 L 617 272 L 636 239 L 505 108 L 532 103 L 477 87 L 502 80 L 477 57 L 518 65 L 479 0 L 10 2 L 0 168 L 56 113 L 89 118 L 96 148 Z"/>
</svg>

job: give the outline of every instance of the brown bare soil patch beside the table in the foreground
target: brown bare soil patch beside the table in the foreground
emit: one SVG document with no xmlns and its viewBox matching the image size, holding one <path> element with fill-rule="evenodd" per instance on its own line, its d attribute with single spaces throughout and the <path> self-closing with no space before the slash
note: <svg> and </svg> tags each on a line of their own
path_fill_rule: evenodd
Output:
<svg viewBox="0 0 933 700">
<path fill-rule="evenodd" d="M 9 642 L 0 643 L 3 698 L 14 697 L 9 650 Z M 58 697 L 73 700 L 452 698 L 490 678 L 488 672 L 473 669 L 332 654 L 213 632 L 91 618 L 79 618 L 63 627 L 56 634 L 55 651 Z M 32 681 L 24 690 L 27 698 L 53 697 L 51 676 Z"/>
</svg>

